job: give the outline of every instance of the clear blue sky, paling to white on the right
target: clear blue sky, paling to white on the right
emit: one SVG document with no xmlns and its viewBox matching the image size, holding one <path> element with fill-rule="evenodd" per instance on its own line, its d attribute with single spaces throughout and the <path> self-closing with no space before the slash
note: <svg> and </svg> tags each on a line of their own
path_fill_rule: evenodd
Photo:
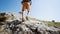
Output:
<svg viewBox="0 0 60 34">
<path fill-rule="evenodd" d="M 60 22 L 60 0 L 32 0 L 30 7 L 30 17 Z M 0 0 L 0 12 L 18 13 L 21 9 L 21 0 Z"/>
</svg>

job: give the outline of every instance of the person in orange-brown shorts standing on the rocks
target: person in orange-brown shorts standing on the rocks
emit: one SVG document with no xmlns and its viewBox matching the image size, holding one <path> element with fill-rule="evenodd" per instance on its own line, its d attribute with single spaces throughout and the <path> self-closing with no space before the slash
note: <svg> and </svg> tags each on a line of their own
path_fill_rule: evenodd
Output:
<svg viewBox="0 0 60 34">
<path fill-rule="evenodd" d="M 24 21 L 24 11 L 27 9 L 28 13 L 26 15 L 26 19 L 28 20 L 28 14 L 30 12 L 30 5 L 32 4 L 31 0 L 22 0 L 22 21 Z"/>
</svg>

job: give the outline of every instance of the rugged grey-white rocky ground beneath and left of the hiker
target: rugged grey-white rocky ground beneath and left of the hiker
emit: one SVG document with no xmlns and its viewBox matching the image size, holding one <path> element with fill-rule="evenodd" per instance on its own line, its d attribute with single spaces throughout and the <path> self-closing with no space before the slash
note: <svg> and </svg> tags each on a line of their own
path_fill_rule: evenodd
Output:
<svg viewBox="0 0 60 34">
<path fill-rule="evenodd" d="M 1 13 L 0 13 L 1 14 Z M 21 13 L 7 12 L 6 21 L 0 22 L 0 34 L 60 34 L 60 29 L 39 21 L 21 22 Z M 5 23 L 6 22 L 6 23 Z"/>
</svg>

